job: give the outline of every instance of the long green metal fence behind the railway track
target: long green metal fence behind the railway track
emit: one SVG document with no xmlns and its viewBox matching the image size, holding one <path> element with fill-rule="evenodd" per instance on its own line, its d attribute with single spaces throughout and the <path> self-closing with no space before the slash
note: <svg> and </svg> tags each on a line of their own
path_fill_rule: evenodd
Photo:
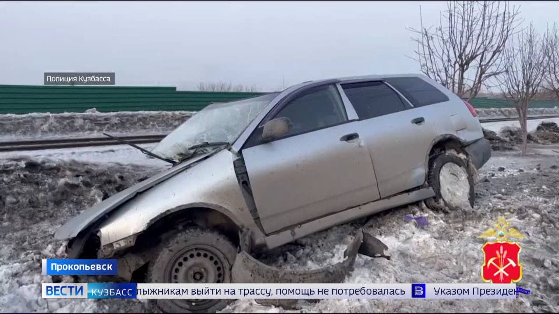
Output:
<svg viewBox="0 0 559 314">
<path fill-rule="evenodd" d="M 101 112 L 140 110 L 198 111 L 212 102 L 233 101 L 260 93 L 183 92 L 175 87 L 0 85 L 0 113 Z M 508 108 L 499 98 L 473 98 L 475 108 Z M 531 101 L 530 108 L 553 108 L 557 101 Z"/>
</svg>

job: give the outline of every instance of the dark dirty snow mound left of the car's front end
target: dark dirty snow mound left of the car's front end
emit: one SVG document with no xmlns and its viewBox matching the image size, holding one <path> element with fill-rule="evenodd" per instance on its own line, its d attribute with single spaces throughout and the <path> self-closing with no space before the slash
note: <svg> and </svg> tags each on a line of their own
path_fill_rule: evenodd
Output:
<svg viewBox="0 0 559 314">
<path fill-rule="evenodd" d="M 104 302 L 93 300 L 42 299 L 41 283 L 53 279 L 41 274 L 41 259 L 66 256 L 66 243 L 54 240 L 54 232 L 70 217 L 157 170 L 132 165 L 3 160 L 0 163 L 1 311 L 109 311 Z M 64 276 L 63 282 L 72 282 L 72 278 Z M 112 308 L 112 311 L 125 310 Z"/>
</svg>

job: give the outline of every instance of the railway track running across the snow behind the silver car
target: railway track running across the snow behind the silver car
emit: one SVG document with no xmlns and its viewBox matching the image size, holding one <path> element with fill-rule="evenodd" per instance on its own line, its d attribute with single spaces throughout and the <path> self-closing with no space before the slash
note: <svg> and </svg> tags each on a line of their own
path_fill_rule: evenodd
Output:
<svg viewBox="0 0 559 314">
<path fill-rule="evenodd" d="M 555 116 L 532 116 L 528 120 L 559 118 Z M 517 118 L 480 118 L 481 123 L 515 121 Z M 148 144 L 156 143 L 163 139 L 167 134 L 157 135 L 135 135 L 121 136 L 120 138 L 131 142 L 132 144 Z M 0 151 L 16 151 L 16 150 L 40 150 L 40 149 L 59 149 L 59 148 L 77 148 L 85 146 L 108 146 L 123 145 L 117 140 L 110 137 L 76 137 L 72 139 L 53 139 L 53 140 L 25 140 L 25 141 L 9 141 L 0 142 Z"/>
</svg>

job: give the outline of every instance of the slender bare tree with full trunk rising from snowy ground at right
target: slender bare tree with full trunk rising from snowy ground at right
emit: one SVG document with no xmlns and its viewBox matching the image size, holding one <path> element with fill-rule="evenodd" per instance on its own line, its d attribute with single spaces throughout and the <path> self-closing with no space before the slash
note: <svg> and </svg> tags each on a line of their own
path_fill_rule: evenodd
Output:
<svg viewBox="0 0 559 314">
<path fill-rule="evenodd" d="M 514 102 L 520 129 L 522 129 L 522 155 L 528 143 L 528 103 L 542 87 L 547 72 L 548 35 L 538 34 L 532 23 L 516 40 L 511 39 L 503 53 L 504 72 L 496 79 L 504 97 Z"/>
</svg>

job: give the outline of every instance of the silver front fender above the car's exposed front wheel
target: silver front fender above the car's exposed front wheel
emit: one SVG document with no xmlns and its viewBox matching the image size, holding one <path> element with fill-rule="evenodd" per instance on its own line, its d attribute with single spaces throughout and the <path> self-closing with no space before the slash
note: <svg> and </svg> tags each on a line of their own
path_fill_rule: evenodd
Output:
<svg viewBox="0 0 559 314">
<path fill-rule="evenodd" d="M 220 212 L 239 228 L 253 230 L 257 235 L 258 228 L 236 178 L 234 158 L 230 151 L 222 150 L 138 194 L 96 227 L 101 246 L 114 243 L 116 250 L 122 249 L 122 245 L 134 245 L 135 239 L 130 237 L 144 232 L 161 218 L 200 207 Z"/>
</svg>

